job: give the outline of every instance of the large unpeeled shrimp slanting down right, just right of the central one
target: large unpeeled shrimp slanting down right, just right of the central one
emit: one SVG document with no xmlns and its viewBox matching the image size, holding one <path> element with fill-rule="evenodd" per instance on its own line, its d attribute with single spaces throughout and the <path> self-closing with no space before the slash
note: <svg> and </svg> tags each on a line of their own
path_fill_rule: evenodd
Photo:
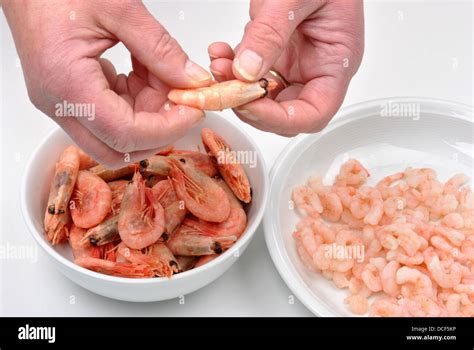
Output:
<svg viewBox="0 0 474 350">
<path fill-rule="evenodd" d="M 223 222 L 229 217 L 229 199 L 213 178 L 186 162 L 171 160 L 170 165 L 173 188 L 187 210 L 211 222 Z"/>
</svg>

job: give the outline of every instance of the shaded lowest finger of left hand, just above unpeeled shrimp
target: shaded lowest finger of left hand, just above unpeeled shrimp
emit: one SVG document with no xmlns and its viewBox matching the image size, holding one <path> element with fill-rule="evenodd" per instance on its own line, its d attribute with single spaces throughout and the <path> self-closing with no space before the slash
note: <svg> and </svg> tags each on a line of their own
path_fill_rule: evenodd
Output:
<svg viewBox="0 0 474 350">
<path fill-rule="evenodd" d="M 72 118 L 52 118 L 73 141 L 95 161 L 110 169 L 126 166 L 131 162 L 138 162 L 155 154 L 157 150 L 120 153 L 97 139 L 87 128 Z"/>
</svg>

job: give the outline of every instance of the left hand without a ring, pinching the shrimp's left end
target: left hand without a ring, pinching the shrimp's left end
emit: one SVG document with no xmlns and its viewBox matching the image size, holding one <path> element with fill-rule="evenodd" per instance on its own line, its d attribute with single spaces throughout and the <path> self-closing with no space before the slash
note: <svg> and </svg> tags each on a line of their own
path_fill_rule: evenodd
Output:
<svg viewBox="0 0 474 350">
<path fill-rule="evenodd" d="M 88 154 L 123 166 L 182 137 L 204 118 L 168 104 L 170 87 L 201 87 L 212 77 L 139 1 L 4 1 L 33 104 Z M 133 71 L 117 75 L 102 53 L 123 42 Z M 93 106 L 95 115 L 57 116 L 64 101 Z"/>
</svg>

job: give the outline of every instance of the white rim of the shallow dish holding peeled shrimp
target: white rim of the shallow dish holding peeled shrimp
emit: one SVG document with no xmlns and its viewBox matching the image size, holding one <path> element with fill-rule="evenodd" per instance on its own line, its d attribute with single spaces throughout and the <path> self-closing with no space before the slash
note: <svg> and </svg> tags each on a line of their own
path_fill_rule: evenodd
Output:
<svg viewBox="0 0 474 350">
<path fill-rule="evenodd" d="M 293 138 L 288 145 L 280 152 L 276 158 L 275 163 L 273 164 L 270 175 L 269 175 L 269 197 L 268 204 L 265 209 L 265 215 L 263 218 L 265 242 L 269 250 L 272 261 L 280 274 L 281 278 L 288 286 L 288 288 L 296 295 L 298 300 L 306 306 L 316 316 L 323 317 L 334 317 L 331 309 L 324 305 L 323 303 L 318 303 L 318 298 L 316 297 L 317 303 L 310 303 L 310 300 L 315 300 L 314 294 L 312 294 L 311 289 L 302 281 L 301 277 L 297 274 L 294 274 L 289 261 L 289 256 L 284 247 L 280 247 L 279 238 L 282 237 L 282 233 L 279 230 L 279 219 L 272 218 L 272 207 L 273 207 L 273 198 L 272 194 L 277 193 L 275 191 L 275 181 L 279 170 L 287 165 L 288 159 L 295 159 L 297 156 L 293 155 L 295 148 L 298 146 L 304 147 L 310 142 L 321 138 L 326 133 L 341 127 L 344 124 L 354 122 L 363 118 L 368 118 L 370 115 L 367 113 L 371 108 L 379 105 L 381 103 L 388 102 L 397 102 L 397 103 L 419 103 L 420 110 L 422 111 L 433 111 L 438 114 L 447 115 L 448 111 L 457 111 L 462 113 L 450 114 L 451 117 L 462 119 L 474 124 L 473 120 L 473 106 L 453 102 L 445 99 L 430 98 L 430 97 L 416 97 L 416 96 L 393 96 L 393 97 L 383 97 L 376 98 L 367 101 L 358 102 L 341 108 L 333 120 L 325 127 L 323 130 L 316 134 L 300 134 L 297 137 Z M 359 112 L 359 115 L 356 113 Z M 365 112 L 365 114 L 364 114 Z M 351 115 L 350 118 L 344 118 L 344 116 Z M 276 196 L 276 194 L 275 194 Z"/>
</svg>

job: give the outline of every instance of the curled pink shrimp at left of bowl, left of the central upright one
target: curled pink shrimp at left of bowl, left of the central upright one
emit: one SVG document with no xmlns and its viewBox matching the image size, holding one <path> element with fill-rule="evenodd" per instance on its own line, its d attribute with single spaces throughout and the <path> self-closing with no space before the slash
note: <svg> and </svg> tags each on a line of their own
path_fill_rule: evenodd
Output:
<svg viewBox="0 0 474 350">
<path fill-rule="evenodd" d="M 70 207 L 74 224 L 91 228 L 100 224 L 112 210 L 112 191 L 100 177 L 81 170 Z"/>
</svg>

